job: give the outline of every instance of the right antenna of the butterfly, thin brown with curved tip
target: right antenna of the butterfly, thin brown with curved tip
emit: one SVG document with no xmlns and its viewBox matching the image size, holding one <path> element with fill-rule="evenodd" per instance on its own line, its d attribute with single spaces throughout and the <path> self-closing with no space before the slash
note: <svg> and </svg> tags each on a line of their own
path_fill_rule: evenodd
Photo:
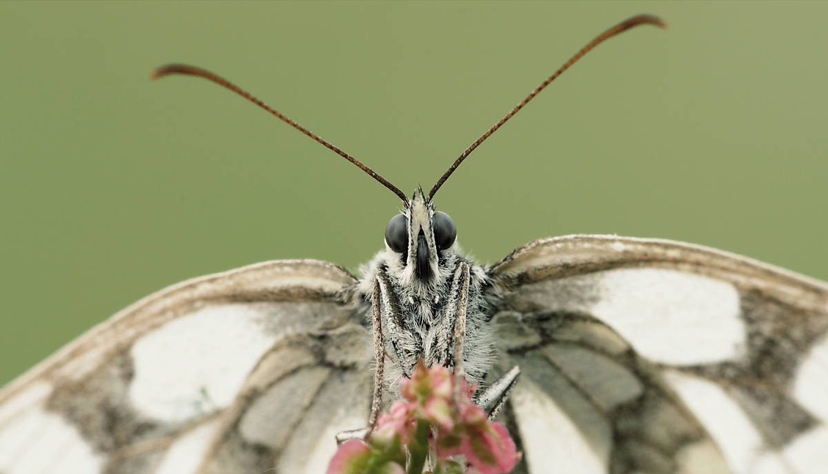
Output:
<svg viewBox="0 0 828 474">
<path fill-rule="evenodd" d="M 489 138 L 489 136 L 491 136 L 495 130 L 503 126 L 503 124 L 506 123 L 508 119 L 512 118 L 518 110 L 522 109 L 524 105 L 529 103 L 529 101 L 532 100 L 532 98 L 534 98 L 544 88 L 546 88 L 546 86 L 549 85 L 549 83 L 555 80 L 559 75 L 563 74 L 563 72 L 566 69 L 569 69 L 571 65 L 574 65 L 575 61 L 580 60 L 581 57 L 583 57 L 586 53 L 590 52 L 590 50 L 595 48 L 595 46 L 604 42 L 604 40 L 608 40 L 609 38 L 618 35 L 623 31 L 627 31 L 633 26 L 644 24 L 661 26 L 662 28 L 667 27 L 667 23 L 663 22 L 662 19 L 659 17 L 653 17 L 652 15 L 638 15 L 637 17 L 628 18 L 627 20 L 620 22 L 618 25 L 609 28 L 609 30 L 604 31 L 599 36 L 596 36 L 595 40 L 590 41 L 587 45 L 585 45 L 577 53 L 575 53 L 575 55 L 572 56 L 570 60 L 566 61 L 566 63 L 564 63 L 564 65 L 562 65 L 558 70 L 556 70 L 554 74 L 546 78 L 546 80 L 543 81 L 541 85 L 537 86 L 537 88 L 532 90 L 532 92 L 529 93 L 529 95 L 527 95 L 527 97 L 524 98 L 520 103 L 518 103 L 515 106 L 515 108 L 510 110 L 505 117 L 501 118 L 497 123 L 493 125 L 493 127 L 489 128 L 489 130 L 486 131 L 482 136 L 480 136 L 477 139 L 477 141 L 474 141 L 474 143 L 472 143 L 471 146 L 469 146 L 469 148 L 466 148 L 466 150 L 462 154 L 460 154 L 460 156 L 457 157 L 455 162 L 452 163 L 451 166 L 449 166 L 449 169 L 446 170 L 442 176 L 440 176 L 440 180 L 437 180 L 437 183 L 434 185 L 434 187 L 431 188 L 431 191 L 428 193 L 428 199 L 434 197 L 434 194 L 436 194 L 437 189 L 440 189 L 440 186 L 442 186 L 443 183 L 445 183 L 445 180 L 449 179 L 449 176 L 455 172 L 457 167 L 460 166 L 460 163 L 462 163 L 463 160 L 465 160 L 466 156 L 469 156 L 475 148 L 477 148 L 481 143 L 483 143 L 485 139 Z"/>
</svg>

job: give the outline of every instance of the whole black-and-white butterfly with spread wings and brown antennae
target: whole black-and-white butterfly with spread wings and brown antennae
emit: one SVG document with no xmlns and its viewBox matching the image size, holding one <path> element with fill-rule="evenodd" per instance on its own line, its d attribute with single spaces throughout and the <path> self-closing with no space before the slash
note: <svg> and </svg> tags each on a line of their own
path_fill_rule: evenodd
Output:
<svg viewBox="0 0 828 474">
<path fill-rule="evenodd" d="M 575 235 L 484 266 L 408 197 L 359 275 L 268 261 L 132 304 L 0 391 L 0 472 L 324 472 L 418 360 L 479 386 L 514 472 L 824 472 L 828 285 L 681 242 Z"/>
</svg>

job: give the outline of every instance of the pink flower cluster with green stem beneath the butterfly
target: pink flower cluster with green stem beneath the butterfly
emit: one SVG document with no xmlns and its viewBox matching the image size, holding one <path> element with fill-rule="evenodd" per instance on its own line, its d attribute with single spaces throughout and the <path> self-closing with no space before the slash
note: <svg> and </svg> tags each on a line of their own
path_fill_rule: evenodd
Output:
<svg viewBox="0 0 828 474">
<path fill-rule="evenodd" d="M 472 403 L 472 388 L 465 381 L 444 367 L 426 369 L 421 363 L 400 389 L 404 400 L 380 415 L 364 441 L 340 444 L 327 474 L 421 474 L 430 451 L 436 454 L 434 474 L 512 470 L 517 462 L 512 438 L 503 424 L 490 423 Z"/>
</svg>

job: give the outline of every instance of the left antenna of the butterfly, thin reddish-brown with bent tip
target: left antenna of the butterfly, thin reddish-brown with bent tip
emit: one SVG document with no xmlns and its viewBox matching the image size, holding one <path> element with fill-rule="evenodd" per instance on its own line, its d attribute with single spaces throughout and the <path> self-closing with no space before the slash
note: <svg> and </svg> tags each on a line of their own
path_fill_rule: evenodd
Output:
<svg viewBox="0 0 828 474">
<path fill-rule="evenodd" d="M 349 160 L 351 163 L 354 163 L 354 165 L 357 165 L 357 167 L 360 170 L 363 170 L 366 173 L 368 173 L 368 175 L 371 176 L 374 180 L 378 180 L 381 184 L 383 184 L 383 186 L 385 186 L 388 189 L 391 189 L 394 192 L 394 194 L 397 194 L 397 196 L 399 196 L 400 199 L 402 199 L 403 203 L 408 203 L 408 199 L 407 199 L 405 193 L 403 193 L 400 189 L 398 189 L 397 186 L 394 186 L 393 184 L 389 183 L 388 180 L 386 180 L 382 176 L 375 173 L 372 169 L 368 168 L 368 166 L 363 165 L 363 163 L 361 161 L 357 160 L 353 156 L 350 156 L 348 153 L 345 153 L 344 151 L 340 150 L 338 147 L 332 145 L 330 142 L 323 140 L 320 136 L 316 135 L 314 132 L 310 132 L 310 130 L 308 130 L 307 128 L 302 127 L 298 123 L 291 120 L 289 117 L 286 117 L 286 115 L 284 115 L 283 113 L 277 111 L 274 108 L 271 108 L 266 103 L 263 103 L 261 100 L 259 100 L 258 98 L 253 97 L 252 95 L 250 95 L 250 93 L 248 93 L 248 92 L 244 91 L 243 89 L 239 88 L 237 85 L 231 83 L 229 80 L 224 79 L 222 77 L 219 77 L 218 75 L 213 74 L 213 73 L 209 72 L 208 70 L 197 68 L 195 66 L 190 66 L 190 65 L 166 65 L 166 66 L 162 66 L 162 67 L 152 71 L 152 74 L 150 75 L 150 77 L 152 79 L 158 79 L 158 78 L 164 77 L 166 75 L 170 75 L 170 74 L 185 74 L 185 75 L 191 75 L 191 76 L 199 76 L 199 77 L 208 79 L 208 80 L 214 82 L 215 84 L 219 84 L 221 86 L 224 86 L 225 88 L 232 90 L 234 93 L 238 93 L 238 95 L 242 96 L 243 98 L 248 99 L 250 102 L 255 103 L 259 107 L 267 110 L 267 112 L 272 113 L 273 115 L 279 117 L 280 119 L 282 119 L 282 122 L 287 122 L 291 127 L 294 127 L 297 130 L 299 130 L 300 132 L 304 133 L 305 135 L 310 136 L 310 138 L 313 138 L 315 141 L 319 141 L 323 146 L 325 146 L 325 148 L 328 148 L 328 149 L 334 151 L 337 155 L 342 156 L 345 160 Z"/>
</svg>

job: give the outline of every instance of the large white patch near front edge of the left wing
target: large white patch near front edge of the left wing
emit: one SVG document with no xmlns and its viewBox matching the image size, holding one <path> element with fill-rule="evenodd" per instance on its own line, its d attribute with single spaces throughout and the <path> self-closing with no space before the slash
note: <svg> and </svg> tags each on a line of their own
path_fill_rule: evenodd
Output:
<svg viewBox="0 0 828 474">
<path fill-rule="evenodd" d="M 230 405 L 276 340 L 249 304 L 226 304 L 171 321 L 132 345 L 132 404 L 148 417 L 185 421 Z"/>
</svg>

